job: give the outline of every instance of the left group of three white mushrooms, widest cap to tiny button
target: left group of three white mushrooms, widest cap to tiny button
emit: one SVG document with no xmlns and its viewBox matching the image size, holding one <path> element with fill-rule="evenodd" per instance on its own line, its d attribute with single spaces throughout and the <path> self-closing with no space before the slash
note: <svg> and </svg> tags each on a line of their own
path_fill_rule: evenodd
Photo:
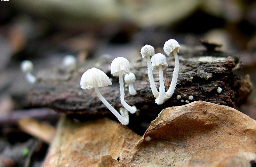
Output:
<svg viewBox="0 0 256 167">
<path fill-rule="evenodd" d="M 100 69 L 92 68 L 84 72 L 81 77 L 80 85 L 82 89 L 94 88 L 96 95 L 100 98 L 102 103 L 116 116 L 116 118 L 123 124 L 128 125 L 129 123 L 129 112 L 135 113 L 137 108 L 135 106 L 130 106 L 124 100 L 124 80 L 129 84 L 129 92 L 131 95 L 135 95 L 137 92 L 133 87 L 133 82 L 135 81 L 135 75 L 130 72 L 130 62 L 124 57 L 115 58 L 110 66 L 111 74 L 113 76 L 119 77 L 120 84 L 120 100 L 124 108 L 120 108 L 120 113 L 108 103 L 108 101 L 100 94 L 99 87 L 104 87 L 111 85 L 109 77 Z M 124 80 L 123 80 L 123 75 Z"/>
</svg>

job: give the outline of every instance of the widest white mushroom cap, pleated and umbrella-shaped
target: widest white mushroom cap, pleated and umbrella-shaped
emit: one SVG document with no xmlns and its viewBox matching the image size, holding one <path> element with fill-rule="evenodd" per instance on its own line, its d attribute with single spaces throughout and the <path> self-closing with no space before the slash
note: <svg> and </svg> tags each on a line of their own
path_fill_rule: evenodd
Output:
<svg viewBox="0 0 256 167">
<path fill-rule="evenodd" d="M 104 87 L 112 85 L 112 82 L 103 71 L 93 67 L 84 72 L 81 77 L 80 86 L 82 89 L 91 89 L 96 85 L 98 87 Z"/>
</svg>

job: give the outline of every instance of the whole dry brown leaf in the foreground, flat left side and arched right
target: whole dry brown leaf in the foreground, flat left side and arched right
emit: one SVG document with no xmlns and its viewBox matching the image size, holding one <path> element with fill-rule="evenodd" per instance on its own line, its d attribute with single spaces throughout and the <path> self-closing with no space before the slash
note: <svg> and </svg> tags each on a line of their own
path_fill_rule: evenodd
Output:
<svg viewBox="0 0 256 167">
<path fill-rule="evenodd" d="M 140 138 L 107 118 L 64 119 L 44 166 L 250 166 L 256 158 L 256 121 L 203 101 L 164 109 Z"/>
</svg>

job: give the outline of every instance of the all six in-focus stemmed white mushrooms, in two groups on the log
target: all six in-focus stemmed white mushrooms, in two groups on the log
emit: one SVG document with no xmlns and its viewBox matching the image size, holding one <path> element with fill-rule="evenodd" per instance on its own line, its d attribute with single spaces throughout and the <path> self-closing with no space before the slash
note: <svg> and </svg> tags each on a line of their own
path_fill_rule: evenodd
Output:
<svg viewBox="0 0 256 167">
<path fill-rule="evenodd" d="M 178 79 L 178 72 L 179 72 L 179 60 L 177 52 L 179 52 L 179 43 L 176 40 L 168 40 L 164 44 L 164 52 L 171 56 L 174 55 L 175 59 L 175 67 L 173 71 L 173 77 L 171 86 L 168 91 L 165 92 L 164 87 L 164 78 L 163 78 L 163 69 L 168 67 L 167 59 L 164 54 L 157 53 L 155 54 L 154 47 L 150 45 L 145 45 L 141 48 L 141 55 L 142 58 L 148 59 L 148 77 L 150 81 L 150 87 L 152 89 L 153 95 L 156 98 L 156 103 L 161 105 L 164 103 L 165 100 L 172 97 L 174 92 L 177 79 Z M 150 58 L 152 56 L 152 58 Z M 156 89 L 156 84 L 153 77 L 153 70 L 159 70 L 159 92 Z M 99 87 L 104 87 L 111 85 L 112 82 L 110 81 L 109 77 L 100 69 L 92 68 L 88 69 L 84 72 L 81 77 L 80 85 L 82 89 L 91 89 L 94 88 L 96 95 L 100 98 L 102 103 L 106 105 L 106 107 L 116 116 L 116 118 L 123 124 L 128 125 L 129 123 L 129 112 L 135 113 L 137 108 L 135 106 L 130 106 L 124 100 L 124 80 L 127 84 L 129 84 L 129 93 L 131 95 L 136 95 L 136 90 L 133 87 L 133 82 L 135 81 L 135 75 L 130 72 L 130 63 L 124 57 L 117 57 L 115 58 L 110 66 L 110 72 L 113 76 L 119 77 L 119 85 L 120 85 L 120 100 L 124 108 L 120 108 L 118 113 L 116 109 L 109 104 L 109 102 L 100 94 Z"/>
</svg>

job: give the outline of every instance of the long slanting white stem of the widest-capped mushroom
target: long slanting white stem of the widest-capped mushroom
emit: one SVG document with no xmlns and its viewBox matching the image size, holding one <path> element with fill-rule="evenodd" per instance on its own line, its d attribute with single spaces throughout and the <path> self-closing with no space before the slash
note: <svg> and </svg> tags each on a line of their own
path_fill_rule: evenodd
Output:
<svg viewBox="0 0 256 167">
<path fill-rule="evenodd" d="M 128 125 L 128 123 L 129 123 L 129 118 L 128 118 L 128 120 L 127 120 L 127 118 L 122 117 L 122 116 L 120 115 L 120 113 L 118 113 L 118 112 L 116 111 L 116 109 L 115 109 L 112 105 L 110 105 L 110 104 L 108 103 L 108 101 L 100 94 L 100 91 L 99 91 L 98 86 L 95 86 L 94 89 L 95 89 L 95 92 L 96 92 L 96 95 L 98 96 L 98 98 L 99 98 L 99 99 L 102 101 L 102 103 L 103 103 L 104 105 L 106 105 L 106 107 L 116 116 L 116 118 L 121 122 L 121 124 L 123 124 L 123 125 Z M 128 115 L 128 116 L 129 116 L 129 115 Z"/>
</svg>

